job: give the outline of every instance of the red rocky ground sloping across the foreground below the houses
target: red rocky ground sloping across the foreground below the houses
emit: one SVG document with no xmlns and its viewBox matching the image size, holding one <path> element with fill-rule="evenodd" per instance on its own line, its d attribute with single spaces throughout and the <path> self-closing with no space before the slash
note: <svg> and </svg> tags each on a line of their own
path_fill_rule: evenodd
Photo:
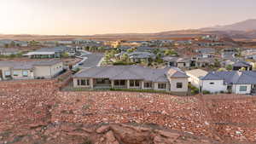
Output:
<svg viewBox="0 0 256 144">
<path fill-rule="evenodd" d="M 253 143 L 254 103 L 247 97 L 61 92 L 56 80 L 1 82 L 0 144 Z"/>
</svg>

